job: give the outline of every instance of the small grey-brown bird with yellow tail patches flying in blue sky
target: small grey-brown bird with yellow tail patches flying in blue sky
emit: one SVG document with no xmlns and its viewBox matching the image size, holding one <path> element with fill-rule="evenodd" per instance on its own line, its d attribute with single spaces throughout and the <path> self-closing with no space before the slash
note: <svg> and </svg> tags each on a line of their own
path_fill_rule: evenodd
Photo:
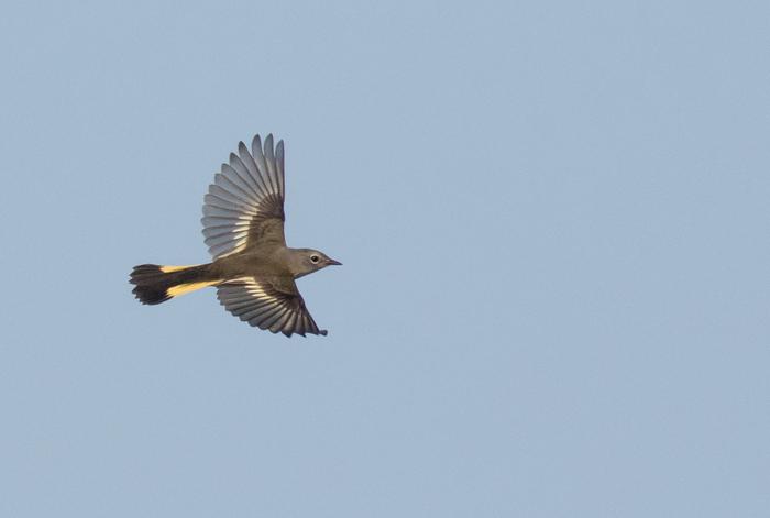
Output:
<svg viewBox="0 0 770 518">
<path fill-rule="evenodd" d="M 204 235 L 213 262 L 190 266 L 141 264 L 134 295 L 155 305 L 207 286 L 224 309 L 251 326 L 286 337 L 322 334 L 295 280 L 330 265 L 323 252 L 289 249 L 284 238 L 284 141 L 254 136 L 222 164 L 204 198 Z"/>
</svg>

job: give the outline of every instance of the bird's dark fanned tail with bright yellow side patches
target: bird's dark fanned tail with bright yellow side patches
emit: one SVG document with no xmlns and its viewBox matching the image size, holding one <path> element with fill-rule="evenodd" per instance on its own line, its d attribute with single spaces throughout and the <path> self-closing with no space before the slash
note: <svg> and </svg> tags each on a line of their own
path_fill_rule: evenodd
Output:
<svg viewBox="0 0 770 518">
<path fill-rule="evenodd" d="M 133 293 L 142 304 L 161 304 L 179 295 L 219 284 L 219 279 L 211 278 L 209 266 L 140 264 L 131 272 L 131 284 L 135 285 Z"/>
</svg>

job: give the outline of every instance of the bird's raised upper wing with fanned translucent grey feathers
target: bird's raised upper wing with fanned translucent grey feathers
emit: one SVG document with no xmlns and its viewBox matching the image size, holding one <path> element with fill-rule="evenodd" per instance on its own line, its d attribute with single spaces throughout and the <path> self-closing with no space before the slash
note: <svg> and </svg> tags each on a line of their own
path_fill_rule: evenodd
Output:
<svg viewBox="0 0 770 518">
<path fill-rule="evenodd" d="M 204 198 L 204 235 L 215 258 L 240 252 L 254 243 L 284 238 L 284 141 L 273 150 L 273 135 L 264 147 L 254 136 L 251 153 L 241 142 L 238 154 L 222 164 Z"/>
</svg>

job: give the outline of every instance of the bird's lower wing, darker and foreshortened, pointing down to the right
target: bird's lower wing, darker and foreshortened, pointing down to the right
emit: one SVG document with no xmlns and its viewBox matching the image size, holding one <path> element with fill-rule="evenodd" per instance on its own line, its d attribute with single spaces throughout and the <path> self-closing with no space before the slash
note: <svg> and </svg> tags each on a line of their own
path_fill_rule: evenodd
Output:
<svg viewBox="0 0 770 518">
<path fill-rule="evenodd" d="M 293 279 L 241 277 L 219 285 L 217 298 L 244 322 L 274 333 L 327 334 L 318 329 Z"/>
</svg>

